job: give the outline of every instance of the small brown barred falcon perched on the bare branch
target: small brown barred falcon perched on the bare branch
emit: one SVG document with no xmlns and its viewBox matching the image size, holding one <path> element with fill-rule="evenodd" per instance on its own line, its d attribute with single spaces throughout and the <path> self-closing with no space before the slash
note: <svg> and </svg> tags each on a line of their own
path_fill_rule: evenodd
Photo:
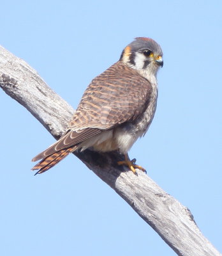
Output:
<svg viewBox="0 0 222 256">
<path fill-rule="evenodd" d="M 137 37 L 122 51 L 119 61 L 87 86 L 68 129 L 53 145 L 32 161 L 32 170 L 46 172 L 71 152 L 118 150 L 133 173 L 145 172 L 130 160 L 128 151 L 151 125 L 158 99 L 157 73 L 163 67 L 163 52 L 152 38 Z"/>
</svg>

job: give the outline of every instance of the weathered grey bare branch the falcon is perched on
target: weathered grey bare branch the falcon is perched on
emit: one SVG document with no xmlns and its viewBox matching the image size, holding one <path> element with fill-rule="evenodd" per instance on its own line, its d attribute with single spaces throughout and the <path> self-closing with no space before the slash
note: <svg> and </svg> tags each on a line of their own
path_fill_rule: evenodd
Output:
<svg viewBox="0 0 222 256">
<path fill-rule="evenodd" d="M 53 92 L 24 60 L 3 47 L 0 47 L 0 86 L 56 139 L 66 130 L 74 109 Z M 118 152 L 99 154 L 85 150 L 75 156 L 126 200 L 177 255 L 221 255 L 202 235 L 187 207 L 140 170 L 137 170 L 137 176 L 127 168 L 117 166 L 117 160 L 123 159 Z"/>
</svg>

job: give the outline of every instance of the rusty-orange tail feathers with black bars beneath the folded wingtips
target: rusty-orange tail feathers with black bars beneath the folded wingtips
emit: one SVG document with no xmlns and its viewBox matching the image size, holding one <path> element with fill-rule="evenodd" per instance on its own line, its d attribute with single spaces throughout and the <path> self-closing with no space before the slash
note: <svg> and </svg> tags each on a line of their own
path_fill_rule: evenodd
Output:
<svg viewBox="0 0 222 256">
<path fill-rule="evenodd" d="M 40 163 L 36 164 L 31 170 L 38 170 L 35 175 L 38 173 L 46 172 L 48 169 L 59 163 L 64 157 L 68 156 L 68 154 L 73 152 L 74 148 L 75 147 L 65 148 L 50 156 L 43 158 Z"/>
</svg>

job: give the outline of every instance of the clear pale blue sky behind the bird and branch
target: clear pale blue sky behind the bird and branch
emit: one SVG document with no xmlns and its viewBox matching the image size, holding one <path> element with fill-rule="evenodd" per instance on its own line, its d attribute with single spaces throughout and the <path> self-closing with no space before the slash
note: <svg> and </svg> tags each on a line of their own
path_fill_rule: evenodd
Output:
<svg viewBox="0 0 222 256">
<path fill-rule="evenodd" d="M 221 1 L 4 1 L 1 40 L 73 108 L 135 36 L 162 47 L 158 108 L 129 152 L 222 251 Z M 54 142 L 0 91 L 0 255 L 175 255 L 74 156 L 33 176 Z"/>
</svg>

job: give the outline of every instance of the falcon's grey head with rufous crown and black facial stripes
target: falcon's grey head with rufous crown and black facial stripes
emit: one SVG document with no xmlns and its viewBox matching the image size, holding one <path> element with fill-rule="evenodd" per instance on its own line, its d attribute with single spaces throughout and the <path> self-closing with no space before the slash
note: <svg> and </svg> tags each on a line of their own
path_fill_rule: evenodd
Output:
<svg viewBox="0 0 222 256">
<path fill-rule="evenodd" d="M 159 67 L 163 67 L 163 52 L 151 38 L 137 37 L 122 51 L 120 61 L 146 78 L 156 77 Z"/>
</svg>

